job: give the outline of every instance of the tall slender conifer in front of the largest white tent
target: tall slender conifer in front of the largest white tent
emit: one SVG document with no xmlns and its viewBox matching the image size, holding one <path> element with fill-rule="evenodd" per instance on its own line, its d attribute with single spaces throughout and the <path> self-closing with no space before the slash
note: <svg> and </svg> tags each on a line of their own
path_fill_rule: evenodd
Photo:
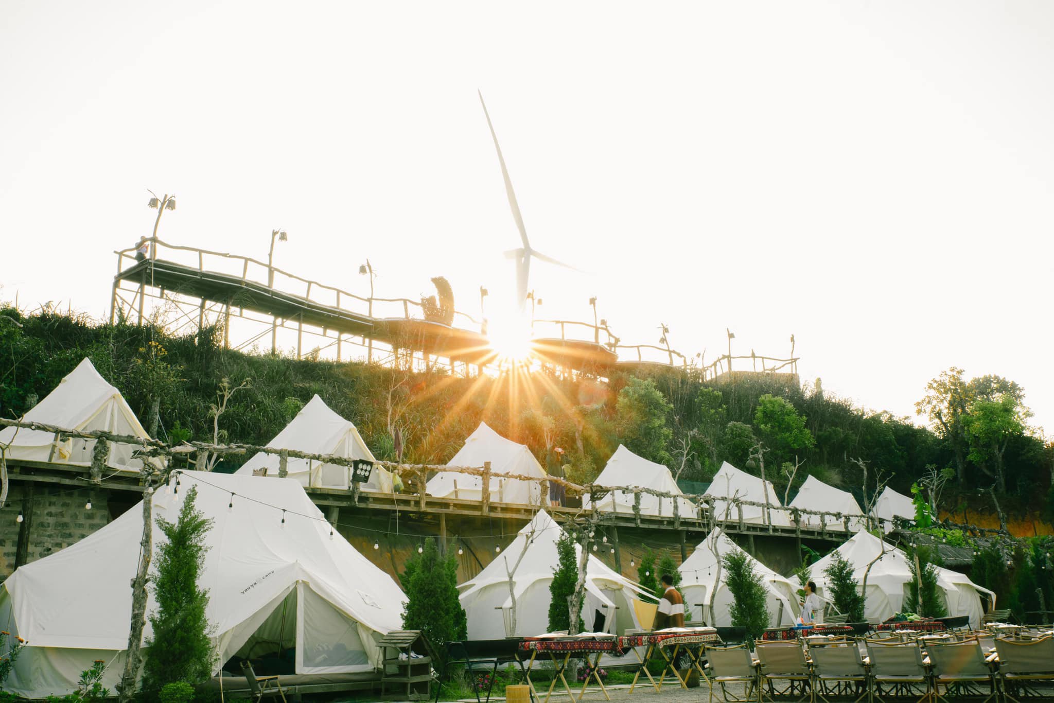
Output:
<svg viewBox="0 0 1054 703">
<path fill-rule="evenodd" d="M 142 671 L 142 690 L 150 700 L 156 700 L 164 684 L 186 681 L 195 685 L 212 676 L 213 646 L 206 617 L 209 591 L 198 586 L 198 579 L 213 521 L 195 507 L 196 500 L 194 486 L 187 491 L 175 523 L 163 518 L 156 523 L 165 541 L 157 545 L 153 577 L 157 609 L 150 614 L 154 634 L 145 643 Z"/>
</svg>

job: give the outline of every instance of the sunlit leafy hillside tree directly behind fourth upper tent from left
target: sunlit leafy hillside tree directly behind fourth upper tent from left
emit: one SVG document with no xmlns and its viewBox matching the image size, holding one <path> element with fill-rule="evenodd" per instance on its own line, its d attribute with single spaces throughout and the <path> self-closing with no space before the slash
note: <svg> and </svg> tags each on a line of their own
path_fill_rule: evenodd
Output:
<svg viewBox="0 0 1054 703">
<path fill-rule="evenodd" d="M 666 422 L 672 409 L 653 380 L 631 377 L 616 404 L 622 444 L 635 454 L 668 465 L 672 457 L 667 446 L 674 431 Z"/>
</svg>

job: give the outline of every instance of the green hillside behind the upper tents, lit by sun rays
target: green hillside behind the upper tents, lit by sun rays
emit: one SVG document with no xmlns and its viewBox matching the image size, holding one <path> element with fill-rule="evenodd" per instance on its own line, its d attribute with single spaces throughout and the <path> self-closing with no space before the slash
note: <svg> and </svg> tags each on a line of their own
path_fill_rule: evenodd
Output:
<svg viewBox="0 0 1054 703">
<path fill-rule="evenodd" d="M 6 317 L 7 320 L 3 320 Z M 46 395 L 81 358 L 117 386 L 140 421 L 161 438 L 211 440 L 210 408 L 227 379 L 248 385 L 219 418 L 220 440 L 265 444 L 313 394 L 358 427 L 380 458 L 394 458 L 392 433 L 403 434 L 404 460 L 445 463 L 486 422 L 527 444 L 545 464 L 546 447 L 561 446 L 574 480 L 596 475 L 620 443 L 667 464 L 686 480 L 707 481 L 728 461 L 748 468 L 750 447 L 762 440 L 766 475 L 781 500 L 787 475 L 800 464 L 789 494 L 808 473 L 854 490 L 861 471 L 852 460 L 892 475 L 907 492 L 928 465 L 953 466 L 949 437 L 909 418 L 872 412 L 823 391 L 764 378 L 734 385 L 701 383 L 698 375 L 651 370 L 607 383 L 562 380 L 549 374 L 497 378 L 410 373 L 366 364 L 248 355 L 221 348 L 217 329 L 170 336 L 150 327 L 97 325 L 44 310 L 25 315 L 0 309 L 0 413 L 13 417 Z M 1024 432 L 1006 437 L 1004 509 L 1042 508 L 1050 491 L 1051 447 Z M 985 504 L 978 489 L 993 480 L 982 461 L 964 467 L 945 507 Z"/>
</svg>

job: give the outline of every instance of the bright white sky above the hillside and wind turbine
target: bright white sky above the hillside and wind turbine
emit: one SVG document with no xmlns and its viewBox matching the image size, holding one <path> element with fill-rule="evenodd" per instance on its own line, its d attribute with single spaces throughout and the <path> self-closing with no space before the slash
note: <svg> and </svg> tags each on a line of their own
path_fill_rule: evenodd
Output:
<svg viewBox="0 0 1054 703">
<path fill-rule="evenodd" d="M 1054 4 L 0 4 L 0 298 L 108 314 L 150 234 L 545 316 L 914 414 L 957 365 L 1054 427 Z M 490 315 L 495 316 L 496 308 Z M 540 315 L 543 311 L 540 311 Z"/>
</svg>

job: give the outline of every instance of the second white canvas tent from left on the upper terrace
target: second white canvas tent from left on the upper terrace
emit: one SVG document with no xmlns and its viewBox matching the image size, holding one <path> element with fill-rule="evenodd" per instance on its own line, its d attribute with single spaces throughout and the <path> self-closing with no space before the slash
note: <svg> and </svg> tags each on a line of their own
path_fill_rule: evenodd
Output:
<svg viewBox="0 0 1054 703">
<path fill-rule="evenodd" d="M 300 408 L 296 417 L 268 443 L 268 447 L 374 461 L 373 454 L 363 442 L 355 426 L 333 412 L 317 395 Z M 253 472 L 258 474 L 260 471 L 266 471 L 267 475 L 276 476 L 278 462 L 278 454 L 259 452 L 238 468 L 236 473 L 251 476 Z M 290 456 L 286 462 L 286 470 L 290 479 L 295 479 L 302 486 L 351 488 L 351 469 L 346 466 L 319 464 L 312 460 Z M 379 466 L 374 466 L 370 480 L 359 488 L 390 493 L 391 475 Z"/>
</svg>

